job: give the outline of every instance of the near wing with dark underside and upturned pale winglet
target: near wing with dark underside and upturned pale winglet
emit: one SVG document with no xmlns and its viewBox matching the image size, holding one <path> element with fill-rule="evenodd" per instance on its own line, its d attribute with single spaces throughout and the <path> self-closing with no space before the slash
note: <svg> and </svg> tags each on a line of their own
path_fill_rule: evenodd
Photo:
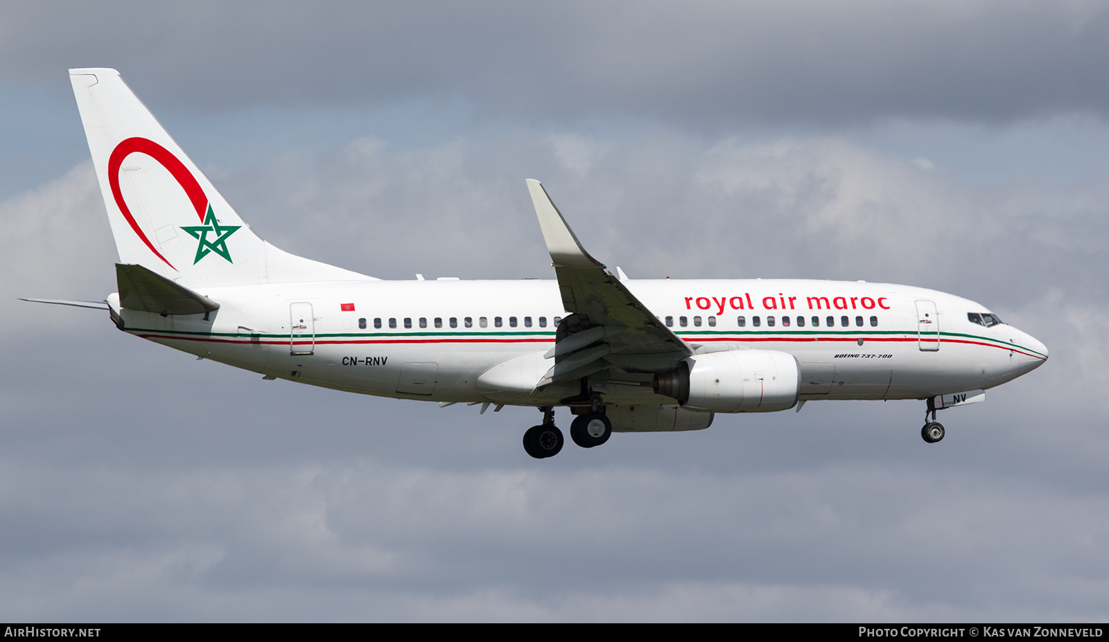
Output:
<svg viewBox="0 0 1109 642">
<path fill-rule="evenodd" d="M 539 181 L 528 179 L 531 203 L 558 276 L 562 305 L 571 314 L 559 325 L 554 367 L 540 386 L 589 376 L 615 366 L 630 373 L 661 373 L 693 354 L 604 265 L 589 255 Z"/>
</svg>

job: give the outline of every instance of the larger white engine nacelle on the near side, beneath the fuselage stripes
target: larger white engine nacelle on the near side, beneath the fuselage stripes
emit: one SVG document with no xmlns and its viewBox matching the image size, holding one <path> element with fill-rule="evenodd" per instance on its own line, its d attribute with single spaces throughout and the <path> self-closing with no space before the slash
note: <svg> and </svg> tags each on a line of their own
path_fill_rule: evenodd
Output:
<svg viewBox="0 0 1109 642">
<path fill-rule="evenodd" d="M 657 375 L 654 391 L 706 412 L 772 412 L 793 408 L 801 394 L 797 359 L 777 350 L 693 355 Z"/>
</svg>

